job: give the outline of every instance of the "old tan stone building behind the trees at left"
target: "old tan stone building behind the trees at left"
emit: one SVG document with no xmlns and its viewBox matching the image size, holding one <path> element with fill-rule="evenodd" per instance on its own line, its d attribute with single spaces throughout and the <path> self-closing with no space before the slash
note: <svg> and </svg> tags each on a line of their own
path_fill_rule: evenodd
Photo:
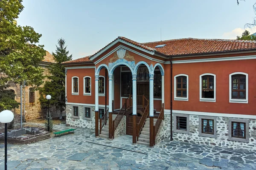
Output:
<svg viewBox="0 0 256 170">
<path fill-rule="evenodd" d="M 46 56 L 44 56 L 44 59 L 39 63 L 39 65 L 44 68 L 44 75 L 49 74 L 48 67 L 50 64 L 55 63 L 55 60 L 48 51 L 46 51 Z M 44 81 L 48 81 L 45 79 Z M 10 81 L 8 82 L 10 87 L 7 88 L 8 90 L 12 90 L 16 96 L 15 100 L 17 102 L 20 102 L 20 85 L 15 84 L 14 82 Z M 25 94 L 24 94 L 24 86 L 22 87 L 22 105 L 23 105 L 23 120 L 34 120 L 34 119 L 40 119 L 43 118 L 45 115 L 41 111 L 41 104 L 39 102 L 39 91 L 33 91 L 31 89 L 31 86 L 25 86 Z M 25 101 L 25 110 L 24 110 L 24 101 Z M 15 113 L 15 124 L 20 124 L 20 107 L 15 108 L 14 110 Z M 25 113 L 24 113 L 25 111 Z M 52 116 L 58 116 L 56 115 L 58 112 L 53 112 L 52 111 Z M 25 119 L 24 119 L 25 117 Z M 4 126 L 2 126 L 4 127 Z"/>
</svg>

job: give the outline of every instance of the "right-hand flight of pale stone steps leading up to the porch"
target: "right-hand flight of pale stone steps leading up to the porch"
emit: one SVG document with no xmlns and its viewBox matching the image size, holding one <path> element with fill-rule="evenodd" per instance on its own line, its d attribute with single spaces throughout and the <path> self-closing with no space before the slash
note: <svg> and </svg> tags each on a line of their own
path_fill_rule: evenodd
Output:
<svg viewBox="0 0 256 170">
<path fill-rule="evenodd" d="M 154 125 L 157 122 L 157 119 L 154 119 Z M 149 146 L 149 118 L 146 119 L 145 125 L 140 133 L 140 136 L 138 138 L 137 144 L 143 144 L 146 146 Z"/>
</svg>

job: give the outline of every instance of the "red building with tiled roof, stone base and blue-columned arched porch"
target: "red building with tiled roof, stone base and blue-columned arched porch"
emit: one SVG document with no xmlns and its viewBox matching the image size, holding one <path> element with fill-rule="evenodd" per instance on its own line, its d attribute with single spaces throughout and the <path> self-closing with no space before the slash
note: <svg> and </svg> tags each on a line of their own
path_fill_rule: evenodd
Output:
<svg viewBox="0 0 256 170">
<path fill-rule="evenodd" d="M 256 41 L 118 37 L 63 64 L 67 125 L 150 146 L 256 150 Z"/>
</svg>

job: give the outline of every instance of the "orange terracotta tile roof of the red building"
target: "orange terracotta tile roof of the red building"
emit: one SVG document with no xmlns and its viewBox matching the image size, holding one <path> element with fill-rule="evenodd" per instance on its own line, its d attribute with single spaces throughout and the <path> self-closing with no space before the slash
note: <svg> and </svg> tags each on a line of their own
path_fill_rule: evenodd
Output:
<svg viewBox="0 0 256 170">
<path fill-rule="evenodd" d="M 165 54 L 166 56 L 207 54 L 207 53 L 215 53 L 215 52 L 223 52 L 223 51 L 256 49 L 256 41 L 250 41 L 250 40 L 184 38 L 184 39 L 139 43 L 125 37 L 118 37 L 112 42 L 118 39 L 124 40 L 125 42 L 131 43 L 132 45 L 136 45 L 137 47 L 143 48 L 148 51 L 157 51 L 161 54 Z M 108 45 L 110 45 L 112 42 L 110 42 Z M 164 47 L 155 48 L 157 45 L 163 45 L 163 44 L 166 44 L 166 45 Z M 96 52 L 92 56 L 104 50 L 108 45 L 100 49 L 98 52 Z M 87 56 L 80 59 L 75 59 L 72 61 L 62 62 L 62 63 L 66 64 L 66 63 L 91 62 L 90 57 L 92 56 Z"/>
</svg>

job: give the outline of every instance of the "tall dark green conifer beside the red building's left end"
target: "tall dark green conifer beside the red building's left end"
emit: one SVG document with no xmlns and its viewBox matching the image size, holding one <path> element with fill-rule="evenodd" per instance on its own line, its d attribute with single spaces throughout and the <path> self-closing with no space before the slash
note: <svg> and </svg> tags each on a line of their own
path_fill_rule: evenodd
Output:
<svg viewBox="0 0 256 170">
<path fill-rule="evenodd" d="M 67 46 L 65 46 L 65 40 L 59 39 L 58 46 L 56 45 L 55 53 L 52 55 L 55 59 L 56 64 L 53 64 L 49 68 L 48 79 L 51 81 L 46 82 L 44 87 L 40 89 L 40 102 L 41 106 L 45 108 L 48 104 L 47 99 L 44 96 L 47 94 L 52 96 L 50 99 L 51 105 L 54 105 L 57 110 L 60 111 L 60 119 L 62 119 L 62 112 L 65 109 L 65 67 L 61 65 L 61 62 L 70 61 L 72 55 L 68 56 Z"/>
</svg>

